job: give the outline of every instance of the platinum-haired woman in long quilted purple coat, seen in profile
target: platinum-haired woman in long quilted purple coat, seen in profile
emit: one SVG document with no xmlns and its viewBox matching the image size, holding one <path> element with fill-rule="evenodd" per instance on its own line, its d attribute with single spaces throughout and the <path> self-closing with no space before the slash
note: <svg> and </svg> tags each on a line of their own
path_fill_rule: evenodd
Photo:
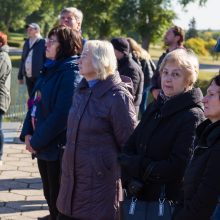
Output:
<svg viewBox="0 0 220 220">
<path fill-rule="evenodd" d="M 70 108 L 57 201 L 59 219 L 114 220 L 120 198 L 121 151 L 136 121 L 133 97 L 116 72 L 113 46 L 88 41 Z"/>
</svg>

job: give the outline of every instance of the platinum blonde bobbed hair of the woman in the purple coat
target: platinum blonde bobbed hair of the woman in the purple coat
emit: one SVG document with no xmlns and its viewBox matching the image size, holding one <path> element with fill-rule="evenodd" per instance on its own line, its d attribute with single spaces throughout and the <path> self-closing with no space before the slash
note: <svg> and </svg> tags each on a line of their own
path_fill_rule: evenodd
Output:
<svg viewBox="0 0 220 220">
<path fill-rule="evenodd" d="M 89 40 L 85 43 L 83 51 L 90 51 L 92 54 L 92 65 L 96 70 L 97 78 L 106 79 L 109 75 L 115 74 L 117 59 L 114 48 L 108 41 Z"/>
</svg>

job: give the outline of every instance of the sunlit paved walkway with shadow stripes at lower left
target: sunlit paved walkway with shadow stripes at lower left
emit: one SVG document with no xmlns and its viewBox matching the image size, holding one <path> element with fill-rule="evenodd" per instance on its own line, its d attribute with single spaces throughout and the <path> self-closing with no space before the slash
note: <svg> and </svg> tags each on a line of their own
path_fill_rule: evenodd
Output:
<svg viewBox="0 0 220 220">
<path fill-rule="evenodd" d="M 0 166 L 0 219 L 29 220 L 48 214 L 36 160 L 24 144 L 14 144 L 20 123 L 4 123 L 6 137 Z"/>
</svg>

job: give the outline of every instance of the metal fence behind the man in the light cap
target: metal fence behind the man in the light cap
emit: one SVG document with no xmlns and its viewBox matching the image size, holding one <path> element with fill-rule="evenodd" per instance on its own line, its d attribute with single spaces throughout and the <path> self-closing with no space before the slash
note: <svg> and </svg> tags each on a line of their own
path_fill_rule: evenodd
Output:
<svg viewBox="0 0 220 220">
<path fill-rule="evenodd" d="M 11 76 L 11 104 L 6 114 L 4 114 L 4 121 L 22 122 L 27 112 L 27 89 L 26 85 L 19 85 L 18 68 L 12 69 Z"/>
</svg>

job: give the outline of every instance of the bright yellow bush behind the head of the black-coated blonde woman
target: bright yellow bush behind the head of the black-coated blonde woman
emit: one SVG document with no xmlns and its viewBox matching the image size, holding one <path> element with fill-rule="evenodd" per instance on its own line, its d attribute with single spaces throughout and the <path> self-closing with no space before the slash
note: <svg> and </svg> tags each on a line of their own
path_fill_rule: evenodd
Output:
<svg viewBox="0 0 220 220">
<path fill-rule="evenodd" d="M 201 38 L 190 38 L 185 42 L 185 47 L 192 49 L 196 54 L 206 56 L 208 51 L 206 50 L 206 43 Z"/>
</svg>

